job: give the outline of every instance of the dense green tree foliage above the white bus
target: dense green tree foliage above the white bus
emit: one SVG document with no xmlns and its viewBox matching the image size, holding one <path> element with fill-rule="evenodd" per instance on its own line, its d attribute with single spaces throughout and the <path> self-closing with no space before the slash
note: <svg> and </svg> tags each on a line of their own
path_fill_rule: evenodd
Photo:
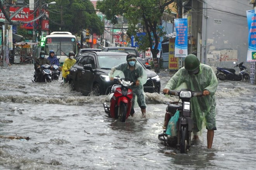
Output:
<svg viewBox="0 0 256 170">
<path fill-rule="evenodd" d="M 81 34 L 83 29 L 90 33 L 102 34 L 104 23 L 97 16 L 90 0 L 54 0 L 56 4 L 49 5 L 50 31 L 69 31 Z M 47 0 L 50 3 L 52 0 Z"/>
</svg>

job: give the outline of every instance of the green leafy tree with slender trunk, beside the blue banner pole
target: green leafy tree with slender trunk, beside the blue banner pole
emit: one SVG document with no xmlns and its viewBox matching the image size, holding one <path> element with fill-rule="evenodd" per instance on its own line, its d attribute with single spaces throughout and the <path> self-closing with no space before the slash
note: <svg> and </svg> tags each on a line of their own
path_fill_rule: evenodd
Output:
<svg viewBox="0 0 256 170">
<path fill-rule="evenodd" d="M 97 9 L 105 14 L 106 19 L 113 24 L 117 23 L 118 15 L 124 15 L 129 24 L 128 34 L 136 35 L 136 31 L 138 31 L 136 25 L 142 24 L 147 33 L 147 41 L 142 38 L 140 39 L 141 42 L 138 43 L 143 46 L 142 49 L 144 50 L 148 47 L 145 43 L 149 43 L 152 56 L 156 60 L 159 52 L 157 50 L 159 37 L 164 35 L 158 26 L 161 25 L 163 12 L 173 2 L 175 0 L 102 0 L 97 2 Z M 154 48 L 152 48 L 153 45 Z M 159 72 L 158 62 L 155 64 L 155 71 Z"/>
</svg>

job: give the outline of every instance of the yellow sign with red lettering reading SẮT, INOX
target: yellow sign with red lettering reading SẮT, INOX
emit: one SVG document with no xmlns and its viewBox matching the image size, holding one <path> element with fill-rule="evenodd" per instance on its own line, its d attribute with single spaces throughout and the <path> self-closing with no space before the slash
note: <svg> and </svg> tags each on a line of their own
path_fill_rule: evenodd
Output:
<svg viewBox="0 0 256 170">
<path fill-rule="evenodd" d="M 174 57 L 174 44 L 175 38 L 169 39 L 169 69 L 176 70 L 178 69 L 178 58 Z"/>
</svg>

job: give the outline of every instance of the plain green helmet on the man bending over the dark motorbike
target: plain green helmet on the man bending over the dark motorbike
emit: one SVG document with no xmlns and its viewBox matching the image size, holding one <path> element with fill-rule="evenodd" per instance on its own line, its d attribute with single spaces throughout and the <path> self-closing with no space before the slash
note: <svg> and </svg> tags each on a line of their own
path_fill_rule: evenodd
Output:
<svg viewBox="0 0 256 170">
<path fill-rule="evenodd" d="M 200 61 L 194 54 L 189 54 L 185 58 L 185 69 L 189 74 L 195 74 L 199 71 Z"/>
</svg>

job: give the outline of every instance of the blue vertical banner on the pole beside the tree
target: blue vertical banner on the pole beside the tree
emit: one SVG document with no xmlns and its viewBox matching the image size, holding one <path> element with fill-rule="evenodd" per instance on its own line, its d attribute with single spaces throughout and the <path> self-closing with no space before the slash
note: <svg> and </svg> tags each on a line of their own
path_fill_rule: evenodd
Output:
<svg viewBox="0 0 256 170">
<path fill-rule="evenodd" d="M 175 57 L 186 57 L 188 55 L 188 20 L 187 18 L 174 19 L 176 38 L 175 38 Z"/>
</svg>

